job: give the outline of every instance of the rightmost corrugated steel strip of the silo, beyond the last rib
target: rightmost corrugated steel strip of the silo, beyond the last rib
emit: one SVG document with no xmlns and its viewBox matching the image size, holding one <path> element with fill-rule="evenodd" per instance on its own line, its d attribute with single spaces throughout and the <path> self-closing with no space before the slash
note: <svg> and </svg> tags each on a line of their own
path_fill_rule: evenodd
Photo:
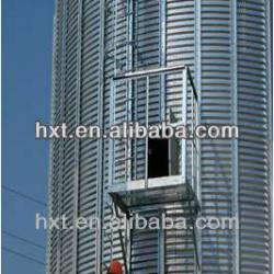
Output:
<svg viewBox="0 0 274 274">
<path fill-rule="evenodd" d="M 240 270 L 271 273 L 266 2 L 238 2 Z"/>
</svg>

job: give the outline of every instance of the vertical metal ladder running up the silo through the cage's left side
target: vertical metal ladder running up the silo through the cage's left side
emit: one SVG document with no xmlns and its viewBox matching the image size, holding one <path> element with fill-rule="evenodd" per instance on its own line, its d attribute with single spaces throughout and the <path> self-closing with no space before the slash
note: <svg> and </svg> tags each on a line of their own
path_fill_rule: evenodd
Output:
<svg viewBox="0 0 274 274">
<path fill-rule="evenodd" d="M 133 27 L 134 27 L 134 2 L 133 0 L 125 0 L 126 1 L 126 5 L 124 7 L 124 18 L 127 22 L 126 24 L 126 30 L 127 30 L 127 34 L 126 34 L 126 42 L 125 42 L 125 46 L 126 46 L 126 70 L 127 71 L 132 71 L 133 70 L 133 53 L 134 53 L 134 42 L 133 42 Z M 125 3 L 125 1 L 123 1 L 123 3 Z M 122 69 L 122 64 L 121 60 L 117 58 L 117 20 L 118 20 L 118 0 L 113 0 L 113 26 L 114 26 L 114 31 L 113 31 L 113 41 L 112 41 L 112 52 L 113 52 L 113 62 L 114 62 L 114 77 L 117 76 L 118 72 L 118 68 Z M 110 57 L 110 56 L 109 56 Z M 115 90 L 113 89 L 114 87 L 111 87 L 111 90 Z M 113 93 L 112 93 L 113 94 Z M 115 96 L 116 94 L 114 93 L 111 96 L 111 103 L 112 106 L 114 107 L 115 105 Z M 133 105 L 133 84 L 132 81 L 127 82 L 126 84 L 126 122 L 129 122 L 132 119 L 132 105 Z M 112 107 L 111 106 L 111 107 Z M 115 107 L 114 107 L 115 109 Z M 130 111 L 129 111 L 130 110 Z M 111 125 L 115 124 L 115 111 L 111 110 L 113 112 L 113 119 L 111 121 Z M 124 161 L 126 170 L 125 170 L 125 180 L 130 180 L 132 178 L 132 140 L 129 138 L 127 138 L 126 140 L 122 140 L 122 142 L 124 142 L 125 146 L 125 155 L 126 158 L 121 160 Z M 110 164 L 113 164 L 113 159 L 112 159 L 112 151 L 115 148 L 110 148 Z M 116 164 L 117 162 L 114 162 L 114 164 Z M 112 171 L 112 169 L 109 169 L 110 172 Z M 112 178 L 111 180 L 113 180 L 115 176 L 115 174 L 110 174 L 110 178 Z M 111 210 L 111 218 L 123 218 L 121 216 L 121 214 L 118 213 L 118 208 L 117 206 L 113 203 L 110 202 L 110 199 L 107 197 L 105 197 L 104 203 L 106 205 L 106 207 L 110 208 Z M 127 216 L 127 220 L 129 219 L 129 216 Z M 128 222 L 126 224 L 128 226 Z M 114 241 L 114 230 L 112 228 L 110 228 L 111 231 L 110 233 L 106 232 L 106 237 L 111 243 L 110 246 L 110 253 L 111 253 L 111 261 L 114 259 L 114 247 L 113 247 L 113 241 Z M 123 235 L 122 230 L 118 229 L 118 237 L 119 237 L 119 241 L 121 241 L 121 248 L 122 248 L 122 255 L 123 255 L 123 261 L 124 261 L 124 267 L 125 267 L 125 273 L 126 274 L 130 274 L 130 256 L 132 256 L 132 231 L 130 229 L 126 229 L 126 233 Z M 107 267 L 107 265 L 105 265 L 105 267 Z"/>
</svg>

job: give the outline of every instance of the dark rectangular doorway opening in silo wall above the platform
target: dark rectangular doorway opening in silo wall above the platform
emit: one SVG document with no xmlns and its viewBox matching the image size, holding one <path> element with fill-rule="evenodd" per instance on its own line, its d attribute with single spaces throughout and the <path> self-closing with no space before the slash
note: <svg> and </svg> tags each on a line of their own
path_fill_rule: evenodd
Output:
<svg viewBox="0 0 274 274">
<path fill-rule="evenodd" d="M 148 140 L 148 178 L 169 175 L 169 140 Z"/>
</svg>

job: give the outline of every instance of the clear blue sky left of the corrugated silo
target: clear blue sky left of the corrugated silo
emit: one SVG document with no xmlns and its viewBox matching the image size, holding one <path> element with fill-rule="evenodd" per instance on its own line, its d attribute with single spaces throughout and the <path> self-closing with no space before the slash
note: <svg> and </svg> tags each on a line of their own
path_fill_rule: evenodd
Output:
<svg viewBox="0 0 274 274">
<path fill-rule="evenodd" d="M 54 0 L 2 1 L 2 184 L 47 202 L 48 141 L 35 140 L 35 121 L 48 123 Z M 46 246 L 35 213 L 47 208 L 2 191 L 2 230 Z M 2 246 L 45 262 L 45 250 L 2 233 Z M 3 274 L 42 274 L 45 266 L 2 251 Z"/>
</svg>

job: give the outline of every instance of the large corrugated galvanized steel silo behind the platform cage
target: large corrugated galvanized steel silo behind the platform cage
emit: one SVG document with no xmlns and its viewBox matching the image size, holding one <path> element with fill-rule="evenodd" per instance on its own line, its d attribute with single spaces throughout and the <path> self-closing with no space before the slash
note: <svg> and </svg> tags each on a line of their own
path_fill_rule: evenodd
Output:
<svg viewBox="0 0 274 274">
<path fill-rule="evenodd" d="M 240 126 L 240 138 L 202 140 L 202 215 L 239 218 L 239 230 L 199 232 L 201 273 L 271 273 L 271 3 L 267 0 L 56 0 L 53 124 L 110 127 L 111 80 L 125 71 L 186 65 L 199 94 L 201 123 Z M 150 122 L 180 119 L 180 75 L 150 83 Z M 135 118 L 142 121 L 144 82 Z M 118 89 L 121 100 L 125 88 Z M 164 95 L 163 95 L 164 94 Z M 163 101 L 161 101 L 162 99 Z M 161 102 L 161 104 L 160 104 Z M 144 144 L 133 178 L 144 174 Z M 110 142 L 55 139 L 50 146 L 50 216 L 111 218 Z M 106 203 L 107 202 L 107 203 Z M 167 205 L 168 216 L 187 215 Z M 155 210 L 147 215 L 156 215 Z M 190 231 L 135 231 L 132 273 L 196 273 Z M 52 230 L 48 273 L 101 274 L 122 259 L 118 233 Z M 161 266 L 162 267 L 162 266 Z"/>
</svg>

